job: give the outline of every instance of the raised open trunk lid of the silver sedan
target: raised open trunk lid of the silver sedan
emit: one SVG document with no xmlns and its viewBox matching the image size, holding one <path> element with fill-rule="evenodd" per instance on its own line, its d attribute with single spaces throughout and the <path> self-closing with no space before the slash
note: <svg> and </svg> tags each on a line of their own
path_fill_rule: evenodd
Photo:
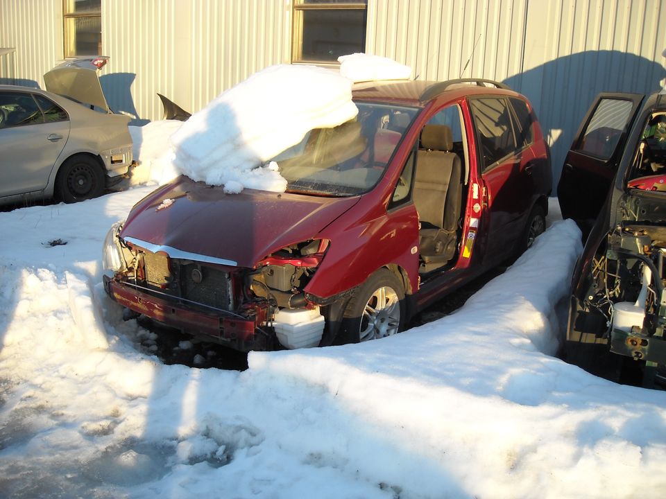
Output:
<svg viewBox="0 0 666 499">
<path fill-rule="evenodd" d="M 83 104 L 92 104 L 110 112 L 99 76 L 94 69 L 58 66 L 44 74 L 44 85 L 52 94 L 69 97 Z"/>
</svg>

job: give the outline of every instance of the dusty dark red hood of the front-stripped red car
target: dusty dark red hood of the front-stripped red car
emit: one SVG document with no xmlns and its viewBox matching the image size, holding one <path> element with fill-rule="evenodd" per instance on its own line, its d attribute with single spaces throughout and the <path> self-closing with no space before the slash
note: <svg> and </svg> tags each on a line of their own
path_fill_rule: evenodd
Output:
<svg viewBox="0 0 666 499">
<path fill-rule="evenodd" d="M 139 202 L 120 236 L 172 257 L 253 268 L 284 246 L 316 238 L 358 200 L 254 189 L 226 194 L 182 176 Z"/>
</svg>

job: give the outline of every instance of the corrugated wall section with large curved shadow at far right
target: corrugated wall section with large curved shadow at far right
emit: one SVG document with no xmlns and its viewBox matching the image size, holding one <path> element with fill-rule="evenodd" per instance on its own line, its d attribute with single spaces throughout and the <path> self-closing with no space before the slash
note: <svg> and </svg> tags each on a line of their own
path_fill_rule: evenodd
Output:
<svg viewBox="0 0 666 499">
<path fill-rule="evenodd" d="M 555 180 L 600 91 L 650 94 L 666 78 L 663 0 L 531 1 L 521 73 L 507 80 L 532 101 L 551 144 Z"/>
</svg>

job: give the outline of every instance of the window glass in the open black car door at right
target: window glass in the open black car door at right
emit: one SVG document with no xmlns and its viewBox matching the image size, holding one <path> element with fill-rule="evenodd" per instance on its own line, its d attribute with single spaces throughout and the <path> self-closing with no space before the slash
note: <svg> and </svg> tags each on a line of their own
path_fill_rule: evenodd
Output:
<svg viewBox="0 0 666 499">
<path fill-rule="evenodd" d="M 599 100 L 597 109 L 583 134 L 576 150 L 601 159 L 613 156 L 617 142 L 631 120 L 631 100 L 604 98 Z"/>
</svg>

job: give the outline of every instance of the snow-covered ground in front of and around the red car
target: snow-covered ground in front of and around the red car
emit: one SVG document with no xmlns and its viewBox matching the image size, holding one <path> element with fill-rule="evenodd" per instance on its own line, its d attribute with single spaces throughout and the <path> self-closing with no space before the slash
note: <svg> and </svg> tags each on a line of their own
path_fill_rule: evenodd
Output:
<svg viewBox="0 0 666 499">
<path fill-rule="evenodd" d="M 99 284 L 105 232 L 151 189 L 0 213 L 0 496 L 666 492 L 666 394 L 552 357 L 572 222 L 436 322 L 193 369 L 142 353 Z"/>
</svg>

